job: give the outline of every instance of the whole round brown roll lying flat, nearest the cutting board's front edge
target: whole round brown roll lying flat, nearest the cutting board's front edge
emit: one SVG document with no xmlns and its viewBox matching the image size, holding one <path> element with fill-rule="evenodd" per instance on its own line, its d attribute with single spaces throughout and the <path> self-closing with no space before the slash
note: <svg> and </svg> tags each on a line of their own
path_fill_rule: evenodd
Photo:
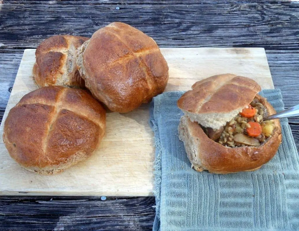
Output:
<svg viewBox="0 0 299 231">
<path fill-rule="evenodd" d="M 20 166 L 50 175 L 91 156 L 105 126 L 106 111 L 85 90 L 49 86 L 26 94 L 9 111 L 3 141 Z"/>
</svg>

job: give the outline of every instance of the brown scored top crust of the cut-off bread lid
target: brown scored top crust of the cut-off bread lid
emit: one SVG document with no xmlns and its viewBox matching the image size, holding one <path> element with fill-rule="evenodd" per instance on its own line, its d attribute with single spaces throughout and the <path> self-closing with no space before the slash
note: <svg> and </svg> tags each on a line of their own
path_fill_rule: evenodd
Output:
<svg viewBox="0 0 299 231">
<path fill-rule="evenodd" d="M 249 104 L 261 90 L 247 77 L 234 74 L 214 75 L 193 84 L 178 100 L 181 110 L 191 113 L 227 113 Z"/>
</svg>

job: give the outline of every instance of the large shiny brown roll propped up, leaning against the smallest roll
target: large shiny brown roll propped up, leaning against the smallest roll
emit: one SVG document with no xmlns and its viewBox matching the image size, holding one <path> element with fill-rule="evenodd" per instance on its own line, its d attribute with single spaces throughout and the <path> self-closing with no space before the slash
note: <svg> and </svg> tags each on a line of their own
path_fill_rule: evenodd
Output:
<svg viewBox="0 0 299 231">
<path fill-rule="evenodd" d="M 167 62 L 155 41 L 125 23 L 97 30 L 77 56 L 86 87 L 111 111 L 132 111 L 167 85 Z"/>
</svg>

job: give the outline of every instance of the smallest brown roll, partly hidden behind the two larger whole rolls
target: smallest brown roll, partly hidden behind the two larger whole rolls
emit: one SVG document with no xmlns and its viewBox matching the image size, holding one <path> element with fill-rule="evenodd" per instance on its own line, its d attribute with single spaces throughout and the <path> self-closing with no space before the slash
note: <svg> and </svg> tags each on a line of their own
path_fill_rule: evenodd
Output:
<svg viewBox="0 0 299 231">
<path fill-rule="evenodd" d="M 33 78 L 39 87 L 60 85 L 84 88 L 76 65 L 76 49 L 89 38 L 57 35 L 45 39 L 36 48 Z"/>
</svg>

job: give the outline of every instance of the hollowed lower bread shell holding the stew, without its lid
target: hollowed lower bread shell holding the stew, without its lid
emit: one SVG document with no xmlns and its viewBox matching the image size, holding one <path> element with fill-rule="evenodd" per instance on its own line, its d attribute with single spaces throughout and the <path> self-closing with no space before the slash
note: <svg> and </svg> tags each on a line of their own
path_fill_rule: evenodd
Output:
<svg viewBox="0 0 299 231">
<path fill-rule="evenodd" d="M 261 99 L 259 95 L 257 97 Z M 268 109 L 269 115 L 276 113 L 267 101 L 263 101 L 263 105 Z M 209 172 L 225 174 L 253 171 L 271 160 L 282 139 L 280 122 L 279 120 L 273 121 L 277 127 L 274 134 L 266 143 L 258 147 L 230 148 L 223 146 L 211 140 L 201 126 L 196 122 L 191 122 L 187 116 L 181 117 L 178 130 L 180 140 L 184 141 L 188 158 L 196 171 L 206 169 Z M 190 143 L 187 143 L 188 141 Z M 193 151 L 191 146 L 194 146 Z"/>
</svg>

